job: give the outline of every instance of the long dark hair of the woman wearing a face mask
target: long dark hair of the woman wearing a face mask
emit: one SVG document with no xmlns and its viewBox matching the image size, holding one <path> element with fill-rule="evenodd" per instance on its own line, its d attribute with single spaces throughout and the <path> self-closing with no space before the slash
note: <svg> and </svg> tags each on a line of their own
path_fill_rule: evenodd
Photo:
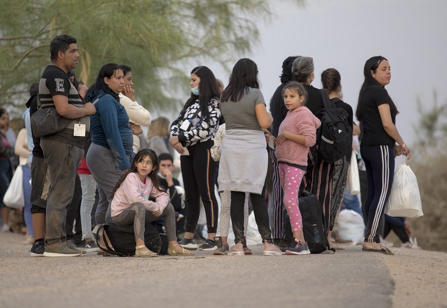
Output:
<svg viewBox="0 0 447 308">
<path fill-rule="evenodd" d="M 194 67 L 191 74 L 195 74 L 200 78 L 199 95 L 194 95 L 191 92 L 191 97 L 186 101 L 186 104 L 180 111 L 180 114 L 184 115 L 186 110 L 198 99 L 202 112 L 201 119 L 208 122 L 208 104 L 210 103 L 211 99 L 219 98 L 219 84 L 217 83 L 216 77 L 211 69 L 206 66 Z"/>
</svg>

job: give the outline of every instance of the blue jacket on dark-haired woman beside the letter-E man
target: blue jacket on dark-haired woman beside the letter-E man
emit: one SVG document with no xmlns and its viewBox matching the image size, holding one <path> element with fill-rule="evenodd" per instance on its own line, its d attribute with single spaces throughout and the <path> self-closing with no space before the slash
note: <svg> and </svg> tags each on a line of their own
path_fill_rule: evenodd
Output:
<svg viewBox="0 0 447 308">
<path fill-rule="evenodd" d="M 90 116 L 91 142 L 112 151 L 120 170 L 130 168 L 126 155 L 132 155 L 132 129 L 124 107 L 110 94 L 100 90 L 88 96 L 94 103 L 96 112 Z M 101 96 L 102 95 L 102 96 Z M 95 102 L 96 97 L 99 100 Z"/>
</svg>

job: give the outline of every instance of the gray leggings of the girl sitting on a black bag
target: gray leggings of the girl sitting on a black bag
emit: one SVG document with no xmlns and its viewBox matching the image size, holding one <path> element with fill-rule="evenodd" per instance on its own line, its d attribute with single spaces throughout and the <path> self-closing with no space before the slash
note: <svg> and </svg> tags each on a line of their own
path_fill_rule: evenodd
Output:
<svg viewBox="0 0 447 308">
<path fill-rule="evenodd" d="M 152 212 L 147 211 L 145 205 L 137 202 L 123 210 L 117 216 L 112 217 L 115 225 L 123 227 L 134 225 L 135 241 L 145 240 L 145 223 L 152 222 L 159 217 L 164 217 L 164 228 L 168 241 L 177 241 L 177 232 L 175 230 L 175 211 L 171 203 L 168 203 L 160 216 L 153 216 Z"/>
</svg>

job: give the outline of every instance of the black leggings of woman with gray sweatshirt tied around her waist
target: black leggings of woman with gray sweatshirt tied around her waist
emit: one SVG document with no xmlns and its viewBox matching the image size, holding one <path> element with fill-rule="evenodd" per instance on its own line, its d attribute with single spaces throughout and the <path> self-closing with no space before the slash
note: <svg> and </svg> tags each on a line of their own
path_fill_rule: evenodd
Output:
<svg viewBox="0 0 447 308">
<path fill-rule="evenodd" d="M 269 213 L 265 202 L 265 185 L 261 194 L 250 193 L 250 199 L 262 243 L 265 241 L 272 243 Z M 244 202 L 245 192 L 231 191 L 231 224 L 234 233 L 234 243 L 239 243 L 244 240 Z"/>
</svg>

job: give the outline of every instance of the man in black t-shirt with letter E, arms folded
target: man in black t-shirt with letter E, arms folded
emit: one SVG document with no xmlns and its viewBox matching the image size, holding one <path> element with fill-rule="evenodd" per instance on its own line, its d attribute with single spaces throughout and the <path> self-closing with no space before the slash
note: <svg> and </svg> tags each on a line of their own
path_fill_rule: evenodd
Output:
<svg viewBox="0 0 447 308">
<path fill-rule="evenodd" d="M 46 208 L 46 246 L 43 256 L 79 256 L 82 251 L 67 243 L 65 220 L 74 193 L 74 181 L 83 145 L 90 130 L 89 115 L 95 113 L 91 103 L 82 101 L 67 72 L 79 61 L 76 39 L 58 35 L 50 43 L 51 64 L 39 82 L 37 105 L 55 108 L 61 117 L 73 119 L 66 128 L 40 138 L 48 168 L 50 186 Z"/>
</svg>

